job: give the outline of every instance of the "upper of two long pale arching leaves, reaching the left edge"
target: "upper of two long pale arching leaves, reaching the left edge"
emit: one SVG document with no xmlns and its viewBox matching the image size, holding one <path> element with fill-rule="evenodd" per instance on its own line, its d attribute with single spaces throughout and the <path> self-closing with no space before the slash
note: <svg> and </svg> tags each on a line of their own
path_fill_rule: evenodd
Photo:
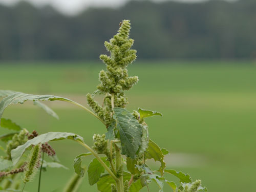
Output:
<svg viewBox="0 0 256 192">
<path fill-rule="evenodd" d="M 70 99 L 67 99 L 64 97 L 59 97 L 59 96 L 54 96 L 54 95 L 31 95 L 31 94 L 26 94 L 26 93 L 22 93 L 22 92 L 14 92 L 13 94 L 5 97 L 0 102 L 0 118 L 2 117 L 7 106 L 9 106 L 10 104 L 17 104 L 17 103 L 23 104 L 27 100 L 33 100 L 33 101 L 59 100 L 59 101 L 70 102 L 73 104 L 78 104 L 77 102 L 72 101 Z"/>
</svg>

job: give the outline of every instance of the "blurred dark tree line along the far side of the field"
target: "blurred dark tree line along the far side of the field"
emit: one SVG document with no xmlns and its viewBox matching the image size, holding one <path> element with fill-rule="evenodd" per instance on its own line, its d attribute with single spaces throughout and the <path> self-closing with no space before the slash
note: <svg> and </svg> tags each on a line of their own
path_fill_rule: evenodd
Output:
<svg viewBox="0 0 256 192">
<path fill-rule="evenodd" d="M 122 19 L 131 19 L 139 58 L 256 57 L 256 1 L 212 0 L 131 1 L 75 16 L 26 2 L 0 5 L 0 59 L 98 59 Z"/>
</svg>

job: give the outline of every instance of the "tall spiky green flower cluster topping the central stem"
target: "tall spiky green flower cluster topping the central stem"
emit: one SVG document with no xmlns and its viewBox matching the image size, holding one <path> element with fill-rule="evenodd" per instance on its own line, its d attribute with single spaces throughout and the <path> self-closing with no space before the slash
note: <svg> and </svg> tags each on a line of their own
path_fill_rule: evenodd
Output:
<svg viewBox="0 0 256 192">
<path fill-rule="evenodd" d="M 97 89 L 105 94 L 103 106 L 100 106 L 92 95 L 87 95 L 88 105 L 107 126 L 112 120 L 111 97 L 114 96 L 115 107 L 124 108 L 127 104 L 124 91 L 130 90 L 139 80 L 137 76 L 129 77 L 125 69 L 136 59 L 136 50 L 131 49 L 134 40 L 129 38 L 130 29 L 130 20 L 123 20 L 118 33 L 109 42 L 104 42 L 110 56 L 100 55 L 100 59 L 106 64 L 106 71 L 100 71 L 100 84 L 97 86 Z"/>
</svg>

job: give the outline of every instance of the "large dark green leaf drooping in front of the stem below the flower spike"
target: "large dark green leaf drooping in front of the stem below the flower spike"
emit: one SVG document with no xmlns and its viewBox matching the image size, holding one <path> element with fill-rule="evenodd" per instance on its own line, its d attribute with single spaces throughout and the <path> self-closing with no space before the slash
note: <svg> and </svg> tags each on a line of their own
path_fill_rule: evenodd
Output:
<svg viewBox="0 0 256 192">
<path fill-rule="evenodd" d="M 136 159 L 141 145 L 142 126 L 129 111 L 122 108 L 114 108 L 114 119 L 120 134 L 122 154 Z"/>
</svg>

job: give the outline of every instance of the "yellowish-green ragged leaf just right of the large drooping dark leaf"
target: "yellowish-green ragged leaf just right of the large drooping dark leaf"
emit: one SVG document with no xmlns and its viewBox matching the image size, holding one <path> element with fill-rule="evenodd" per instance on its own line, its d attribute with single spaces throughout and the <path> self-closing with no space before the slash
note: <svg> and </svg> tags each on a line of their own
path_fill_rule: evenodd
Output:
<svg viewBox="0 0 256 192">
<path fill-rule="evenodd" d="M 161 163 L 159 172 L 162 176 L 165 168 L 165 162 L 163 161 L 163 158 L 164 155 L 161 151 L 161 148 L 150 139 L 150 141 L 148 142 L 147 150 L 145 152 L 145 159 L 154 159 L 155 161 L 159 161 Z"/>
</svg>

